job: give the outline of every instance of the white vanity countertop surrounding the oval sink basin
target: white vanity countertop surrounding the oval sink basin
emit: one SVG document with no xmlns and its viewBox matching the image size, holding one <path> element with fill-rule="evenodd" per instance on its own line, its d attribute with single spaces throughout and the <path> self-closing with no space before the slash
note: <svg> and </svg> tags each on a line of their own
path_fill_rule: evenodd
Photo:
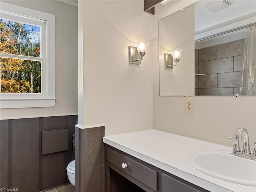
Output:
<svg viewBox="0 0 256 192">
<path fill-rule="evenodd" d="M 204 174 L 186 161 L 187 155 L 202 150 L 228 150 L 231 153 L 232 148 L 228 146 L 154 129 L 105 136 L 103 142 L 209 191 L 256 192 L 256 187 Z"/>
</svg>

